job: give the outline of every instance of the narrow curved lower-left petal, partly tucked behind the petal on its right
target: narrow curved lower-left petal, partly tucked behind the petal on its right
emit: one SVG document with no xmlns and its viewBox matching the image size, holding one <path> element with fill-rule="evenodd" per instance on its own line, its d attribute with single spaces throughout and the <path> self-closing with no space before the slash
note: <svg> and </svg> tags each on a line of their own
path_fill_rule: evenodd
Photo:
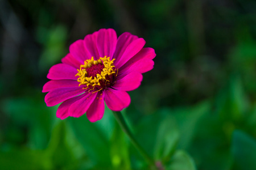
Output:
<svg viewBox="0 0 256 170">
<path fill-rule="evenodd" d="M 84 97 L 84 94 L 65 100 L 63 103 L 60 104 L 59 108 L 57 109 L 56 116 L 61 120 L 67 118 L 69 116 L 68 109 L 71 106 L 71 104 L 81 99 L 82 97 Z"/>
</svg>

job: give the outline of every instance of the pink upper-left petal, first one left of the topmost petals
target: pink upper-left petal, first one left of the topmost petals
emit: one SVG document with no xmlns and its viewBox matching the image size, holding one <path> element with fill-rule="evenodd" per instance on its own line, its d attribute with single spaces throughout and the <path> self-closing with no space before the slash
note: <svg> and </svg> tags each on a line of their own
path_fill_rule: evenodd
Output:
<svg viewBox="0 0 256 170">
<path fill-rule="evenodd" d="M 84 40 L 77 40 L 73 42 L 73 44 L 69 46 L 69 52 L 82 63 L 84 63 L 86 59 L 92 58 L 88 50 L 85 48 Z"/>
</svg>

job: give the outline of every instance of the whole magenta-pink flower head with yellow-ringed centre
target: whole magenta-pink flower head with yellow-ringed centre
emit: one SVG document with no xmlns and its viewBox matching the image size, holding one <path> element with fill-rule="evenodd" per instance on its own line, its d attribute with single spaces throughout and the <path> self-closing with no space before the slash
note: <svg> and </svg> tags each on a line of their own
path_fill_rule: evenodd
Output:
<svg viewBox="0 0 256 170">
<path fill-rule="evenodd" d="M 126 91 L 138 88 L 142 73 L 153 68 L 155 51 L 143 48 L 146 42 L 129 32 L 118 37 L 114 29 L 100 29 L 69 47 L 62 63 L 49 69 L 43 92 L 48 107 L 60 104 L 57 117 L 101 120 L 105 104 L 121 111 L 130 104 Z"/>
</svg>

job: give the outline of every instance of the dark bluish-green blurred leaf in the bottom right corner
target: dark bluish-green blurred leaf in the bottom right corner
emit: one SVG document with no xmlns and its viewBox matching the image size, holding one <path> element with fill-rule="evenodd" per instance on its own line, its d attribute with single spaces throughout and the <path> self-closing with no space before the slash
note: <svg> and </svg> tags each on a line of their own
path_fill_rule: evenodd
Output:
<svg viewBox="0 0 256 170">
<path fill-rule="evenodd" d="M 241 130 L 233 133 L 232 153 L 237 169 L 256 169 L 256 141 Z"/>
</svg>

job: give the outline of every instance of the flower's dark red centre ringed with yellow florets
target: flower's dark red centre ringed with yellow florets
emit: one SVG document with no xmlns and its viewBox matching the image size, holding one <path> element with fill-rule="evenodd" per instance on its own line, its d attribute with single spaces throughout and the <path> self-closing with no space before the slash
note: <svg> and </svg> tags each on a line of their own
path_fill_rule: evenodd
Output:
<svg viewBox="0 0 256 170">
<path fill-rule="evenodd" d="M 115 59 L 110 60 L 110 57 L 100 57 L 94 60 L 86 59 L 84 65 L 80 65 L 77 69 L 78 73 L 75 76 L 79 86 L 86 85 L 84 89 L 97 92 L 112 86 L 114 79 L 117 75 L 117 69 L 113 64 Z"/>
</svg>

